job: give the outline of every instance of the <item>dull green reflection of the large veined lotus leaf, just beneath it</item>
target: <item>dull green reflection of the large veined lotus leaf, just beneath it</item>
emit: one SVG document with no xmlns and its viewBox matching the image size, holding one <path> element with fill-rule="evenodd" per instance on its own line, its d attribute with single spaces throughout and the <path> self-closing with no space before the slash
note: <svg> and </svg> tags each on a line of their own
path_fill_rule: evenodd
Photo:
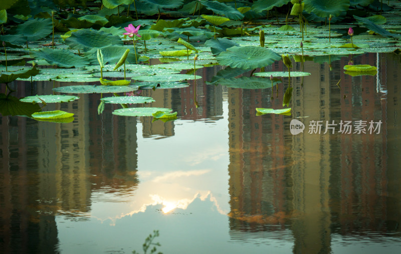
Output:
<svg viewBox="0 0 401 254">
<path fill-rule="evenodd" d="M 273 86 L 281 83 L 281 80 L 273 81 Z M 272 81 L 270 79 L 263 79 L 257 77 L 240 77 L 231 79 L 219 79 L 215 83 L 208 84 L 220 84 L 222 86 L 231 88 L 242 88 L 242 89 L 265 89 L 272 87 Z"/>
</svg>

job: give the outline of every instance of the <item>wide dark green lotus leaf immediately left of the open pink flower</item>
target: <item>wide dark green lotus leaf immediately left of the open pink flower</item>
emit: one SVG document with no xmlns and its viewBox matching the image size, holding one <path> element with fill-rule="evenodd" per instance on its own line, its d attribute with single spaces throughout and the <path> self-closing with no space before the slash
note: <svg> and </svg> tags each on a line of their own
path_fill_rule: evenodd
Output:
<svg viewBox="0 0 401 254">
<path fill-rule="evenodd" d="M 119 36 L 113 36 L 102 31 L 81 29 L 66 39 L 66 44 L 76 50 L 89 51 L 93 48 L 102 48 L 109 45 L 123 45 Z"/>
</svg>

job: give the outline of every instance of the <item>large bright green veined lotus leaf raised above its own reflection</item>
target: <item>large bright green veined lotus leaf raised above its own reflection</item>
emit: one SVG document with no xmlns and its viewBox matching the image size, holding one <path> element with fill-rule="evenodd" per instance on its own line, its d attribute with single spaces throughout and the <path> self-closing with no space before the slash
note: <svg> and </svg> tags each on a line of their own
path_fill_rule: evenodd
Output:
<svg viewBox="0 0 401 254">
<path fill-rule="evenodd" d="M 220 65 L 227 65 L 232 68 L 255 69 L 268 66 L 281 57 L 272 50 L 248 46 L 232 47 L 216 57 Z"/>
</svg>

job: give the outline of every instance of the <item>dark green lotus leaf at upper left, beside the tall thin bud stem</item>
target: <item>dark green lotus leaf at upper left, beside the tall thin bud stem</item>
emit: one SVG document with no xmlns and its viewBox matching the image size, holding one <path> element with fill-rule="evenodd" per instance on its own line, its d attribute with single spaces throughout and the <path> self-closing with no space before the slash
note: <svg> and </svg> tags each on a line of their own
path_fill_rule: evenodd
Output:
<svg viewBox="0 0 401 254">
<path fill-rule="evenodd" d="M 51 19 L 34 19 L 17 26 L 17 34 L 26 41 L 37 41 L 52 33 Z"/>
</svg>

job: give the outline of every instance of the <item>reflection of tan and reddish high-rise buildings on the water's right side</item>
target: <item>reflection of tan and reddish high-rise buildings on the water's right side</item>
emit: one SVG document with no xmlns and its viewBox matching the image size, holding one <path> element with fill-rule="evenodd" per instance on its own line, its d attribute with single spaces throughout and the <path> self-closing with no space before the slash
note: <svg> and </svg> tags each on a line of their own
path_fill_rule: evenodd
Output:
<svg viewBox="0 0 401 254">
<path fill-rule="evenodd" d="M 288 130 L 294 116 L 254 116 L 257 107 L 281 108 L 282 97 L 272 106 L 266 102 L 269 91 L 229 90 L 232 231 L 290 224 L 295 252 L 327 253 L 333 233 L 366 229 L 384 235 L 400 230 L 396 225 L 401 222 L 397 191 L 401 161 L 395 134 L 400 129 L 396 117 L 400 92 L 394 74 L 398 64 L 393 70 L 382 67 L 379 79 L 386 73 L 393 79 L 387 75 L 388 98 L 380 100 L 376 77 L 344 75 L 346 62 L 333 62 L 331 72 L 328 64 L 307 63 L 305 71 L 312 75 L 303 79 L 302 89 L 302 79 L 292 79 L 292 112 L 303 117 L 299 120 L 306 127 L 297 136 Z M 354 60 L 359 62 L 376 65 L 376 55 Z M 298 68 L 297 64 L 294 69 Z M 336 86 L 340 78 L 341 90 Z M 311 120 L 324 125 L 326 120 L 381 120 L 384 124 L 380 134 L 323 134 L 323 126 L 319 135 L 308 134 Z"/>
</svg>

